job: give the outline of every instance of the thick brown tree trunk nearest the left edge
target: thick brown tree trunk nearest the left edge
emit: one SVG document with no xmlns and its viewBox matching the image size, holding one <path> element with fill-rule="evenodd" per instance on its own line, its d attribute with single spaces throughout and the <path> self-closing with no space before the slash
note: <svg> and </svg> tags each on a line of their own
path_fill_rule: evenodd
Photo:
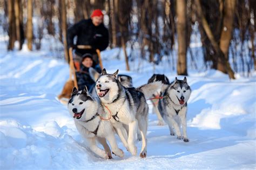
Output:
<svg viewBox="0 0 256 170">
<path fill-rule="evenodd" d="M 15 32 L 15 16 L 14 16 L 14 0 L 8 1 L 8 36 L 9 36 L 9 45 L 8 50 L 14 49 L 14 43 L 16 39 L 16 32 Z"/>
</svg>

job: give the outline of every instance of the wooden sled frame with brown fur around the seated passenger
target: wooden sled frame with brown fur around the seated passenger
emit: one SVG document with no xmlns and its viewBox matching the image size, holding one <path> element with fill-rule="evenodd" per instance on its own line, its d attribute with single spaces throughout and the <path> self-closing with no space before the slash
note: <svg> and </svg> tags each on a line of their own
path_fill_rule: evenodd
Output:
<svg viewBox="0 0 256 170">
<path fill-rule="evenodd" d="M 87 49 L 92 49 L 92 47 L 90 45 L 77 45 L 77 49 L 87 50 Z M 97 53 L 98 60 L 99 60 L 99 66 L 101 69 L 103 69 L 102 58 L 100 56 L 99 49 L 96 49 L 96 53 Z M 58 99 L 60 100 L 60 103 L 62 103 L 62 104 L 68 103 L 68 100 L 71 97 L 73 87 L 76 87 L 78 89 L 76 72 L 79 71 L 79 69 L 75 68 L 72 47 L 70 47 L 70 49 L 69 49 L 69 67 L 70 67 L 69 79 L 68 79 L 68 81 L 66 81 L 62 92 L 58 95 Z"/>
</svg>

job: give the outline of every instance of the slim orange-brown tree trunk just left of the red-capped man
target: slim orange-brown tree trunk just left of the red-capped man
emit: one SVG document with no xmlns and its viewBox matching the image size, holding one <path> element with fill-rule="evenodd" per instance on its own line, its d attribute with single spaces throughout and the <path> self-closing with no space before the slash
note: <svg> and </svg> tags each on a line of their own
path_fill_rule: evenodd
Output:
<svg viewBox="0 0 256 170">
<path fill-rule="evenodd" d="M 64 45 L 65 59 L 69 62 L 69 52 L 68 52 L 68 44 L 66 42 L 66 3 L 65 0 L 60 0 L 60 8 L 61 8 L 61 21 L 62 21 L 62 40 Z"/>
</svg>

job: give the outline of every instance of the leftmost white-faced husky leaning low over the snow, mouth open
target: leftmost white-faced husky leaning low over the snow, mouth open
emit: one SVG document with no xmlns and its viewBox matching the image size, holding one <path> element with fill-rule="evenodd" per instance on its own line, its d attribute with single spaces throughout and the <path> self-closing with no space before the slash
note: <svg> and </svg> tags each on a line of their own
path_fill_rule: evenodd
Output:
<svg viewBox="0 0 256 170">
<path fill-rule="evenodd" d="M 79 92 L 76 87 L 73 87 L 68 108 L 69 113 L 75 120 L 78 132 L 86 139 L 92 152 L 101 158 L 111 159 L 112 155 L 106 143 L 107 140 L 114 154 L 118 157 L 124 156 L 124 152 L 117 146 L 112 124 L 109 120 L 100 119 L 100 113 L 104 113 L 104 111 L 99 104 L 98 97 L 93 98 L 87 92 L 86 87 Z M 103 145 L 105 151 L 96 145 L 96 140 Z"/>
</svg>

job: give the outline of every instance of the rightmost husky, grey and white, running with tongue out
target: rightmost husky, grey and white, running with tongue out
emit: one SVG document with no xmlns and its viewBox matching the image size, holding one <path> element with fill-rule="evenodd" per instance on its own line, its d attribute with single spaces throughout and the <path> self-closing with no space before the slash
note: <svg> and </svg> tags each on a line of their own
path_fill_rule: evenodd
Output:
<svg viewBox="0 0 256 170">
<path fill-rule="evenodd" d="M 186 77 L 183 80 L 178 80 L 170 84 L 163 93 L 163 99 L 159 100 L 158 110 L 169 125 L 170 134 L 175 135 L 173 128 L 176 132 L 177 139 L 183 139 L 188 142 L 187 138 L 187 100 L 190 98 L 191 89 L 187 84 Z M 182 126 L 183 135 L 181 136 L 180 124 Z"/>
</svg>

